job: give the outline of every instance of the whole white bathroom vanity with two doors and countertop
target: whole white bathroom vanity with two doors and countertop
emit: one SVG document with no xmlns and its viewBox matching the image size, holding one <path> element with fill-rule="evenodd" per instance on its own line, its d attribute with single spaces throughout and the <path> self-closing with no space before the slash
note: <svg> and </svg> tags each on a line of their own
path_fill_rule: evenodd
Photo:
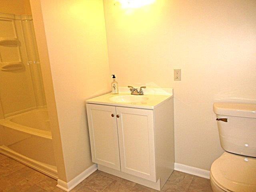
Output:
<svg viewBox="0 0 256 192">
<path fill-rule="evenodd" d="M 160 190 L 174 170 L 172 89 L 119 91 L 86 101 L 92 161 L 103 172 Z"/>
</svg>

